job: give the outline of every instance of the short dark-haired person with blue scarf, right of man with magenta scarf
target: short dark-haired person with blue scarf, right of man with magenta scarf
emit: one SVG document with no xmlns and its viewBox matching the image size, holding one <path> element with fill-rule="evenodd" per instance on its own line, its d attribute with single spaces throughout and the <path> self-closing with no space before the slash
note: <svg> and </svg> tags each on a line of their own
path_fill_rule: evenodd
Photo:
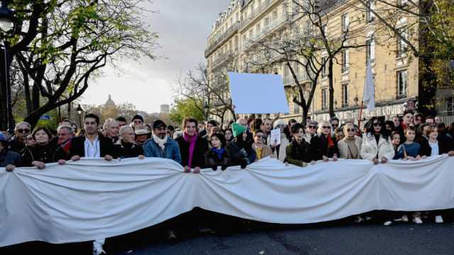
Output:
<svg viewBox="0 0 454 255">
<path fill-rule="evenodd" d="M 230 153 L 226 150 L 226 139 L 221 133 L 211 134 L 211 149 L 205 153 L 205 165 L 213 170 L 221 166 L 221 170 L 226 170 L 230 164 Z"/>
</svg>

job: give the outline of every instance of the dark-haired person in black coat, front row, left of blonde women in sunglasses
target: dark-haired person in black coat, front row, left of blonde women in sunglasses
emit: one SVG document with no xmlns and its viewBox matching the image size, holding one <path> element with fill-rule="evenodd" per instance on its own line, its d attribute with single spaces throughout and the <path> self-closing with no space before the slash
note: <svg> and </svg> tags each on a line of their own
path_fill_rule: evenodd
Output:
<svg viewBox="0 0 454 255">
<path fill-rule="evenodd" d="M 311 162 L 309 144 L 304 141 L 304 126 L 297 123 L 292 126 L 293 141 L 287 146 L 285 162 L 296 166 L 307 166 Z"/>
</svg>

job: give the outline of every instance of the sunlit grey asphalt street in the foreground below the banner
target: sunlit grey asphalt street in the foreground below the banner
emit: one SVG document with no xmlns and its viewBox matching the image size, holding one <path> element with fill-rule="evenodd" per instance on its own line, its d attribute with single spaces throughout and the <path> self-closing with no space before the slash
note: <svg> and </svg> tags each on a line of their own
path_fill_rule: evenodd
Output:
<svg viewBox="0 0 454 255">
<path fill-rule="evenodd" d="M 454 254 L 454 224 L 271 226 L 249 233 L 125 246 L 123 254 Z"/>
</svg>

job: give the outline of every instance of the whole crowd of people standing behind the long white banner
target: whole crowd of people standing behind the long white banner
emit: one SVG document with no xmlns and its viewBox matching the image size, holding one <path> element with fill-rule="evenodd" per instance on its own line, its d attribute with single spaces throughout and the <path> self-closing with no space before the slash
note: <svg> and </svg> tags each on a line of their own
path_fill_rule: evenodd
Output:
<svg viewBox="0 0 454 255">
<path fill-rule="evenodd" d="M 280 140 L 272 141 L 272 129 L 279 130 Z M 47 163 L 65 164 L 80 158 L 157 157 L 181 164 L 187 173 L 201 168 L 226 170 L 228 166 L 247 168 L 250 163 L 268 156 L 285 164 L 305 167 L 317 161 L 338 158 L 365 159 L 375 164 L 402 159 L 454 155 L 454 126 L 446 127 L 439 116 L 404 112 L 392 120 L 372 117 L 360 129 L 353 122 L 291 119 L 238 119 L 222 129 L 214 120 L 184 119 L 182 129 L 155 120 L 145 124 L 136 115 L 128 121 L 119 116 L 99 123 L 95 114 L 84 116 L 83 127 L 63 120 L 55 131 L 27 122 L 16 124 L 14 134 L 0 134 L 0 167 L 12 171 L 19 166 L 44 169 Z M 404 217 L 405 216 L 405 217 Z M 408 220 L 406 215 L 402 219 Z M 360 216 L 358 219 L 362 220 Z M 422 223 L 414 213 L 414 222 Z M 443 222 L 436 212 L 436 222 Z"/>
</svg>

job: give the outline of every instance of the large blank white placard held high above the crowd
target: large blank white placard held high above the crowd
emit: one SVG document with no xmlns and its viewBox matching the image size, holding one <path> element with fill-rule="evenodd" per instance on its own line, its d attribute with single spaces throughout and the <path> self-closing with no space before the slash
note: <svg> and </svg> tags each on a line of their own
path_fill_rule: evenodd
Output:
<svg viewBox="0 0 454 255">
<path fill-rule="evenodd" d="M 288 114 L 280 75 L 228 72 L 236 114 Z"/>
</svg>

